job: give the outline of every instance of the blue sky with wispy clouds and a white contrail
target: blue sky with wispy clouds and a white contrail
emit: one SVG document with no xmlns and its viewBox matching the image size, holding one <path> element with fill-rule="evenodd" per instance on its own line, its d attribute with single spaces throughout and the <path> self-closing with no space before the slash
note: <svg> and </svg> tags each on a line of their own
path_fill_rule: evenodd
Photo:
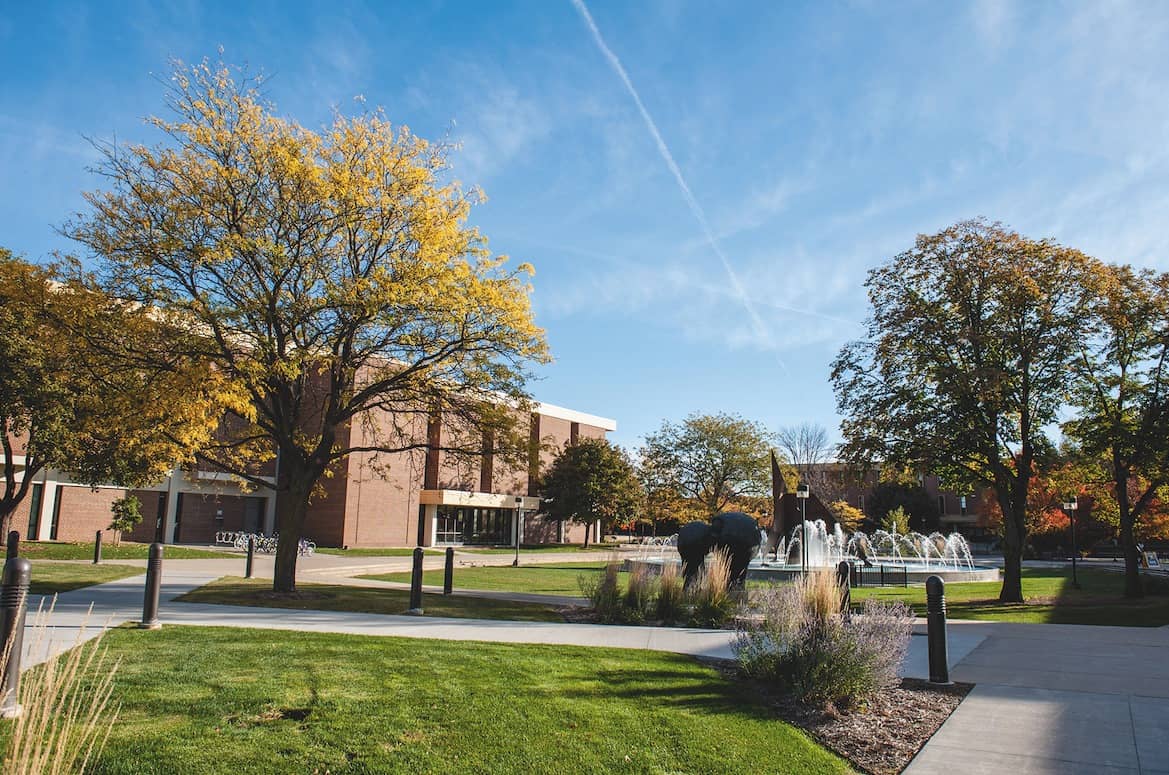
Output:
<svg viewBox="0 0 1169 775">
<path fill-rule="evenodd" d="M 865 272 L 960 219 L 1169 269 L 1163 4 L 12 5 L 0 244 L 71 249 L 85 138 L 159 140 L 168 60 L 222 47 L 305 125 L 362 95 L 461 143 L 475 223 L 537 268 L 534 393 L 628 445 L 691 411 L 835 434 Z"/>
</svg>

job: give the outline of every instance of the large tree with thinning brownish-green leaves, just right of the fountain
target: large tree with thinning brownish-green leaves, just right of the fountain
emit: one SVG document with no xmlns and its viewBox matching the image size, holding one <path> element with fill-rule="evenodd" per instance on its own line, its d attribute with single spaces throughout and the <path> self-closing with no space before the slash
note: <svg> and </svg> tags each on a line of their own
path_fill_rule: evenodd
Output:
<svg viewBox="0 0 1169 775">
<path fill-rule="evenodd" d="M 833 362 L 846 457 L 994 489 L 1003 602 L 1023 602 L 1028 485 L 1066 396 L 1090 264 L 981 220 L 920 235 L 869 274 L 867 335 Z"/>
</svg>

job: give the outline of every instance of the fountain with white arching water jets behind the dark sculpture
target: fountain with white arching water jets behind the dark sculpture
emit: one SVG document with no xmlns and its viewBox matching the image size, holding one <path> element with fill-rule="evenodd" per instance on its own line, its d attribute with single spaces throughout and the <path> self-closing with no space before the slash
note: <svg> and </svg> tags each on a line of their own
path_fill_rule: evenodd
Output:
<svg viewBox="0 0 1169 775">
<path fill-rule="evenodd" d="M 680 562 L 675 548 L 677 538 L 671 535 L 643 544 L 639 556 L 630 563 L 645 563 L 656 569 L 665 562 Z M 904 573 L 907 583 L 921 583 L 933 575 L 946 581 L 998 580 L 997 568 L 974 563 L 970 547 L 960 533 L 943 535 L 934 532 L 926 535 L 878 530 L 872 534 L 857 531 L 845 535 L 838 524 L 829 530 L 822 519 L 796 525 L 775 546 L 768 546 L 765 540 L 756 559 L 748 566 L 747 577 L 786 579 L 804 567 L 835 567 L 842 560 L 892 569 L 898 577 Z"/>
</svg>

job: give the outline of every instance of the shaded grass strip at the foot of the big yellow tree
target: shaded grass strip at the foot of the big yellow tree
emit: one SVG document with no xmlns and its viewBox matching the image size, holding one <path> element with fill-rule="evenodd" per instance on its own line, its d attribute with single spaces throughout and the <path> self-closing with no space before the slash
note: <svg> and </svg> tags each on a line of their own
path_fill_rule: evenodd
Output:
<svg viewBox="0 0 1169 775">
<path fill-rule="evenodd" d="M 410 607 L 406 589 L 371 589 L 343 584 L 297 584 L 299 596 L 275 595 L 272 582 L 263 579 L 224 576 L 194 589 L 180 601 L 188 603 L 223 603 L 261 608 L 298 610 L 361 611 L 365 614 L 404 614 Z M 514 620 L 519 622 L 562 622 L 554 608 L 535 603 L 513 603 L 459 595 L 423 595 L 422 609 L 428 616 L 458 618 Z"/>
</svg>

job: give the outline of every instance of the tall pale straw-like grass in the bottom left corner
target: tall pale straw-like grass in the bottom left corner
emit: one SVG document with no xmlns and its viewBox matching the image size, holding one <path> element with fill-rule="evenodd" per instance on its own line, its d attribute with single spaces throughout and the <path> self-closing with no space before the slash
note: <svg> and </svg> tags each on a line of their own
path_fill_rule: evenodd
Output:
<svg viewBox="0 0 1169 775">
<path fill-rule="evenodd" d="M 44 653 L 49 648 L 51 613 L 53 606 L 37 611 L 26 634 L 26 638 L 32 635 L 29 653 Z M 118 663 L 111 663 L 101 635 L 84 641 L 85 629 L 82 623 L 72 649 L 21 676 L 21 712 L 0 721 L 8 726 L 0 768 L 7 775 L 84 773 L 105 747 L 118 717 L 111 701 Z M 0 664 L 7 664 L 7 650 Z"/>
</svg>

